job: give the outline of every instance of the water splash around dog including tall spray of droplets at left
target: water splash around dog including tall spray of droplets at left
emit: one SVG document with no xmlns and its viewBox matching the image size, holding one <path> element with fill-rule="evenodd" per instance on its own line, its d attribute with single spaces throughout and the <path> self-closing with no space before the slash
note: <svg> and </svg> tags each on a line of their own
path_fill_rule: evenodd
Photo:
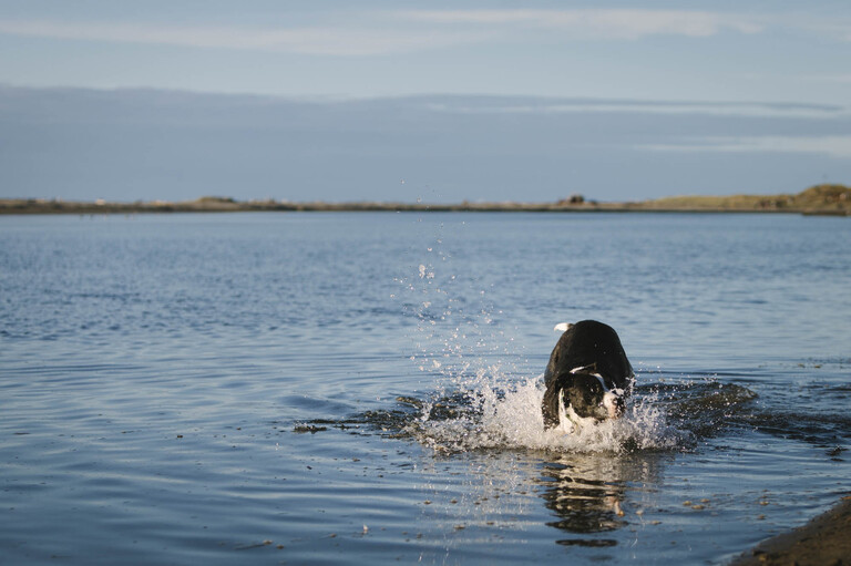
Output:
<svg viewBox="0 0 851 566">
<path fill-rule="evenodd" d="M 406 398 L 397 434 L 439 452 L 543 450 L 563 453 L 689 450 L 736 408 L 756 397 L 747 388 L 698 380 L 640 384 L 627 413 L 574 434 L 545 430 L 542 377 L 530 377 L 523 348 L 499 320 L 482 282 L 453 272 L 440 238 L 409 277 L 404 312 L 417 323 L 411 360 L 434 381 L 428 399 Z M 465 272 L 465 271 L 460 271 Z M 496 362 L 496 363 L 494 363 Z"/>
</svg>

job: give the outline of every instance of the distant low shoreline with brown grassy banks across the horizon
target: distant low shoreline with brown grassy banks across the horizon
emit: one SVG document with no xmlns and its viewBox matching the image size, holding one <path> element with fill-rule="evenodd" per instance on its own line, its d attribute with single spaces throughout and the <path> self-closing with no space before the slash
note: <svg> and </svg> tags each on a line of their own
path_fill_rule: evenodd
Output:
<svg viewBox="0 0 851 566">
<path fill-rule="evenodd" d="M 554 203 L 295 203 L 239 202 L 229 197 L 202 197 L 186 202 L 109 203 L 0 198 L 0 215 L 29 214 L 157 214 L 240 212 L 413 212 L 413 213 L 771 213 L 851 216 L 851 187 L 816 185 L 797 195 L 684 196 L 655 200 L 598 203 L 574 195 Z"/>
</svg>

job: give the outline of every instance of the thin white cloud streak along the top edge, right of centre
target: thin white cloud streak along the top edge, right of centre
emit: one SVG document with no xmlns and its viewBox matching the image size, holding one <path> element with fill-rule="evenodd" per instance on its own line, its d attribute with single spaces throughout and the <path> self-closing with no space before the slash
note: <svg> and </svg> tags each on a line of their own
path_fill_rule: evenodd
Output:
<svg viewBox="0 0 851 566">
<path fill-rule="evenodd" d="M 705 38 L 725 30 L 739 33 L 763 30 L 763 24 L 752 17 L 687 10 L 410 10 L 400 16 L 429 23 L 560 30 L 581 39 L 634 40 L 659 34 Z"/>
</svg>

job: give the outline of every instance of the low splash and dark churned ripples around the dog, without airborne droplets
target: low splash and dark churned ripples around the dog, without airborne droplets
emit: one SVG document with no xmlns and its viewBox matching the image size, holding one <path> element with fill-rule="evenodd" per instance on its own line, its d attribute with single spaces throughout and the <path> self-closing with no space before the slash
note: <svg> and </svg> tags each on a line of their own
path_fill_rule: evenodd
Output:
<svg viewBox="0 0 851 566">
<path fill-rule="evenodd" d="M 332 426 L 349 434 L 378 432 L 444 454 L 532 450 L 571 457 L 691 451 L 737 426 L 772 432 L 771 414 L 751 403 L 756 393 L 711 378 L 640 384 L 624 416 L 573 434 L 544 430 L 543 377 L 519 379 L 493 367 L 458 374 L 438 385 L 427 399 L 399 397 L 390 409 L 368 410 L 345 420 L 297 423 L 294 431 Z M 788 428 L 783 431 L 790 433 Z"/>
</svg>

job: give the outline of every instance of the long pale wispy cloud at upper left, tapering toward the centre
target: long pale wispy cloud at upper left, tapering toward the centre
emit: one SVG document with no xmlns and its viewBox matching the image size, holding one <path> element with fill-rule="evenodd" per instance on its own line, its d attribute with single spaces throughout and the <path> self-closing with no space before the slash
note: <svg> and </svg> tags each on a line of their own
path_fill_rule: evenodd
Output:
<svg viewBox="0 0 851 566">
<path fill-rule="evenodd" d="M 316 55 L 376 55 L 453 45 L 482 33 L 388 28 L 175 27 L 142 23 L 0 21 L 0 33 L 43 39 L 142 43 L 187 48 L 278 51 Z"/>
</svg>

